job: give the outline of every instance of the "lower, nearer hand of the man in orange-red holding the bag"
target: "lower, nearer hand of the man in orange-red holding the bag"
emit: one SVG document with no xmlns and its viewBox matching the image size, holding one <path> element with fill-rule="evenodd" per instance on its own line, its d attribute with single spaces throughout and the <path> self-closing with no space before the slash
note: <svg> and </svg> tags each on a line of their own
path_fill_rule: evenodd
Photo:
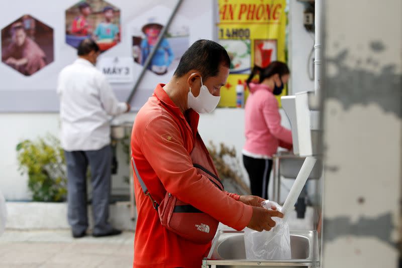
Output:
<svg viewBox="0 0 402 268">
<path fill-rule="evenodd" d="M 283 214 L 277 210 L 268 210 L 261 207 L 253 207 L 253 215 L 247 227 L 256 231 L 269 231 L 275 226 L 272 217 L 283 218 Z"/>
</svg>

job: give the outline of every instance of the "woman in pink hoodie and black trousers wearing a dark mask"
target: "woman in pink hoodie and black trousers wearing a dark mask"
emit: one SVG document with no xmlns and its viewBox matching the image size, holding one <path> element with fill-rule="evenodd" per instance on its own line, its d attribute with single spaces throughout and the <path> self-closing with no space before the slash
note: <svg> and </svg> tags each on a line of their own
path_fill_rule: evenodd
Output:
<svg viewBox="0 0 402 268">
<path fill-rule="evenodd" d="M 279 146 L 292 148 L 291 131 L 280 124 L 278 101 L 274 96 L 282 93 L 290 72 L 285 63 L 274 61 L 258 73 L 258 84 L 250 83 L 255 69 L 247 79 L 250 95 L 245 106 L 243 164 L 250 178 L 251 194 L 268 199 L 272 155 Z"/>
</svg>

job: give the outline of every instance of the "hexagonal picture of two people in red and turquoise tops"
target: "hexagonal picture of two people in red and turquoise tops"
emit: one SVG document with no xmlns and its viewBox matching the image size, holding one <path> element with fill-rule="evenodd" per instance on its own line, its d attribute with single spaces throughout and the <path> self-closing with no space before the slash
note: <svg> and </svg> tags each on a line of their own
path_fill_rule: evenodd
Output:
<svg viewBox="0 0 402 268">
<path fill-rule="evenodd" d="M 104 0 L 86 0 L 65 12 L 66 43 L 77 48 L 92 38 L 104 52 L 120 43 L 120 9 Z"/>
</svg>

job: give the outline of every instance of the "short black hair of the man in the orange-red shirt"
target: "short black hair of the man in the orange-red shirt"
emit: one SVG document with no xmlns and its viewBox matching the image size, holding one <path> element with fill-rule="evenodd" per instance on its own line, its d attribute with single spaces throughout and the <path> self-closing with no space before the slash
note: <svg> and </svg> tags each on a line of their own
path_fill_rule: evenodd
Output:
<svg viewBox="0 0 402 268">
<path fill-rule="evenodd" d="M 197 70 L 207 80 L 218 75 L 221 65 L 230 67 L 230 58 L 225 48 L 211 40 L 197 40 L 181 56 L 174 76 L 180 78 L 190 70 Z"/>
</svg>

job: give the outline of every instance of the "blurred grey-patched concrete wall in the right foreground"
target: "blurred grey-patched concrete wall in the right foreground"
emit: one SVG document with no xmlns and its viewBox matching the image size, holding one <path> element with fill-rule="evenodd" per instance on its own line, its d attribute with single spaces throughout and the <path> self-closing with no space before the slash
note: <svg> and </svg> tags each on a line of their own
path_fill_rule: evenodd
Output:
<svg viewBox="0 0 402 268">
<path fill-rule="evenodd" d="M 400 266 L 401 10 L 325 1 L 325 268 Z"/>
</svg>

